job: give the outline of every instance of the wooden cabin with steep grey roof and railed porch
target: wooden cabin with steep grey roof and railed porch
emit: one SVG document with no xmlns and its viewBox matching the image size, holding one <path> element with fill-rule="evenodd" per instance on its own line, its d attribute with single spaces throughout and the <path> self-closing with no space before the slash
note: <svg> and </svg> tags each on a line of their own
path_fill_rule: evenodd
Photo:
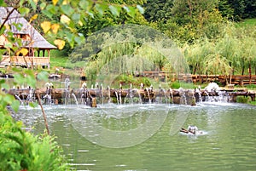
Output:
<svg viewBox="0 0 256 171">
<path fill-rule="evenodd" d="M 49 68 L 50 50 L 56 47 L 50 44 L 24 17 L 21 17 L 17 10 L 12 9 L 11 7 L 0 7 L 0 26 L 11 13 L 4 24 L 8 29 L 0 35 L 0 48 L 8 49 L 5 46 L 9 43 L 7 31 L 12 31 L 14 37 L 21 39 L 20 48 L 26 48 L 28 53 L 23 56 L 18 51 L 6 50 L 6 53 L 0 58 L 0 66 L 43 66 Z M 20 29 L 16 27 L 17 24 L 20 24 Z"/>
</svg>

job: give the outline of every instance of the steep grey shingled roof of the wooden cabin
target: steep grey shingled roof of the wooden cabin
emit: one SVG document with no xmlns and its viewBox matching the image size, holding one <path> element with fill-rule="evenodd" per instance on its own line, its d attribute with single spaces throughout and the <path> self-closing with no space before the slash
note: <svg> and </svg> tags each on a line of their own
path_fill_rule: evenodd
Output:
<svg viewBox="0 0 256 171">
<path fill-rule="evenodd" d="M 6 19 L 12 7 L 0 7 L 0 25 Z M 21 24 L 18 30 L 14 24 Z M 52 49 L 56 48 L 54 45 L 50 44 L 24 17 L 20 15 L 17 10 L 14 10 L 9 16 L 6 24 L 10 27 L 10 30 L 15 34 L 28 34 L 31 37 L 31 41 L 22 41 L 23 47 L 25 48 L 45 48 Z"/>
</svg>

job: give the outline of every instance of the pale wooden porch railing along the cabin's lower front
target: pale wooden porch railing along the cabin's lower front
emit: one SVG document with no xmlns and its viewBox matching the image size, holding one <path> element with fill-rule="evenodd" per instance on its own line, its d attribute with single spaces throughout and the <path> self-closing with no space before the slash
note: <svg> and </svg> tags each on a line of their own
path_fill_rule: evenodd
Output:
<svg viewBox="0 0 256 171">
<path fill-rule="evenodd" d="M 5 56 L 3 55 L 0 65 L 15 66 L 49 66 L 49 57 L 32 57 L 32 56 Z"/>
</svg>

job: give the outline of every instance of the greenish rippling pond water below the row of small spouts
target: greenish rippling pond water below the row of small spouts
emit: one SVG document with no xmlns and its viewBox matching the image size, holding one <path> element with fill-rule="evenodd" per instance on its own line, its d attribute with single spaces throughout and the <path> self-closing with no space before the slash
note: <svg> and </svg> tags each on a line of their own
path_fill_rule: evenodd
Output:
<svg viewBox="0 0 256 171">
<path fill-rule="evenodd" d="M 58 137 L 57 141 L 63 147 L 68 162 L 78 170 L 254 170 L 256 168 L 255 106 L 201 103 L 194 107 L 184 105 L 99 107 L 92 109 L 77 105 L 44 106 L 51 134 Z M 154 117 L 148 111 L 158 115 L 167 112 L 166 117 Z M 170 127 L 180 112 L 187 114 L 180 127 L 186 128 L 189 124 L 193 124 L 207 134 L 170 135 Z M 44 130 L 44 119 L 39 109 L 23 108 L 15 118 L 26 123 L 28 128 L 34 127 L 32 131 L 35 134 Z M 150 120 L 151 127 L 157 129 L 152 134 L 147 132 L 150 128 L 150 124 L 146 124 L 148 118 L 153 118 Z M 97 142 L 93 143 L 93 140 L 88 140 L 88 137 L 81 133 L 83 125 L 91 126 L 91 123 L 87 123 L 89 121 L 112 131 L 134 130 L 147 125 L 144 127 L 145 132 L 150 136 L 137 145 L 109 148 L 97 145 Z M 154 127 L 157 123 L 160 123 L 161 127 Z M 89 132 L 89 129 L 87 131 Z M 99 140 L 102 136 L 102 132 L 96 129 L 92 129 L 91 134 L 100 134 Z M 132 134 L 138 136 L 132 137 L 137 139 L 143 136 L 142 133 L 136 134 L 136 131 Z M 116 137 L 113 136 L 114 138 Z"/>
</svg>

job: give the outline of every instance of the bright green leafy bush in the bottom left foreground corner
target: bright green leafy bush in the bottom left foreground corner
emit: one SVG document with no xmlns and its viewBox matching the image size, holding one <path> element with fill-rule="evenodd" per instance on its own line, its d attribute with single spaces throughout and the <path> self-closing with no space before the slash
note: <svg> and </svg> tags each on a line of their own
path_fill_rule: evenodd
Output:
<svg viewBox="0 0 256 171">
<path fill-rule="evenodd" d="M 67 170 L 53 137 L 25 132 L 8 111 L 1 112 L 0 118 L 0 170 Z"/>
</svg>

